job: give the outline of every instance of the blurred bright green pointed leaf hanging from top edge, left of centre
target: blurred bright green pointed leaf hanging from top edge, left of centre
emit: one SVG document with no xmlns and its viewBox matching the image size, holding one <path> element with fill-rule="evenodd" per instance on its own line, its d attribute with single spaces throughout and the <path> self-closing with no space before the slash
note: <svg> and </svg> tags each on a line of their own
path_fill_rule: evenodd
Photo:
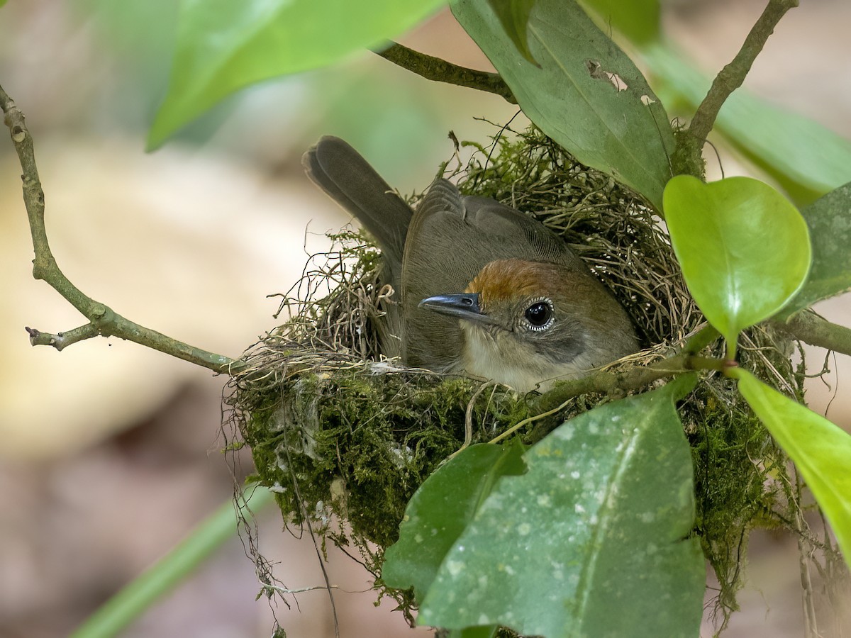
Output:
<svg viewBox="0 0 851 638">
<path fill-rule="evenodd" d="M 148 147 L 226 95 L 315 69 L 414 26 L 445 0 L 185 0 L 168 94 Z"/>
</svg>

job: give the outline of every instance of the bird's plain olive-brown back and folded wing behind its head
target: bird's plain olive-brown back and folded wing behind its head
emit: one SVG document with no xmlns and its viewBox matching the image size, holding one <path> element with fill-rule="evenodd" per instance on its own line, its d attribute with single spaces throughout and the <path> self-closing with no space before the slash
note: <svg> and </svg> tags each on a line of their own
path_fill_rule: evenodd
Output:
<svg viewBox="0 0 851 638">
<path fill-rule="evenodd" d="M 437 179 L 408 227 L 403 257 L 403 361 L 432 370 L 458 369 L 457 319 L 419 307 L 436 294 L 461 293 L 496 259 L 545 261 L 585 272 L 588 267 L 540 222 L 486 197 L 464 197 Z"/>
</svg>

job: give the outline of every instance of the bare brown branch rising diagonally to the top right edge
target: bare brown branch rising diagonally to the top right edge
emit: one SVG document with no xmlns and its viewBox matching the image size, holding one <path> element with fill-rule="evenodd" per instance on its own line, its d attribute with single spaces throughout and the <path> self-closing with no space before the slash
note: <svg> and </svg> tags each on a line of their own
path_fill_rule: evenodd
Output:
<svg viewBox="0 0 851 638">
<path fill-rule="evenodd" d="M 798 6 L 798 0 L 768 0 L 768 6 L 759 16 L 759 20 L 745 37 L 745 43 L 736 54 L 733 61 L 722 68 L 718 73 L 709 92 L 698 106 L 692 117 L 688 129 L 683 131 L 677 142 L 677 150 L 674 152 L 675 167 L 703 166 L 700 161 L 700 153 L 706 141 L 706 136 L 715 124 L 718 111 L 730 94 L 739 88 L 745 81 L 748 71 L 751 71 L 753 61 L 765 46 L 768 36 L 774 32 L 774 27 L 780 22 L 786 11 Z M 686 169 L 684 172 L 695 174 L 694 169 Z M 697 175 L 702 177 L 701 174 Z"/>
</svg>

